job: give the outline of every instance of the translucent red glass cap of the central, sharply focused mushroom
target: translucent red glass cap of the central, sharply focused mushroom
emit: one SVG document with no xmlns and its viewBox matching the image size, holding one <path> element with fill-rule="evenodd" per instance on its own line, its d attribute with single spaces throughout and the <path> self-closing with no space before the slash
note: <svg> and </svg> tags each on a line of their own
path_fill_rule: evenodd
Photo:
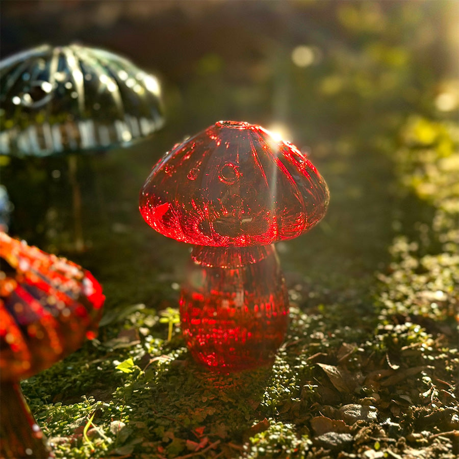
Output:
<svg viewBox="0 0 459 459">
<path fill-rule="evenodd" d="M 294 145 L 257 125 L 219 121 L 153 167 L 140 212 L 177 241 L 244 247 L 310 230 L 328 200 L 325 181 Z"/>
</svg>

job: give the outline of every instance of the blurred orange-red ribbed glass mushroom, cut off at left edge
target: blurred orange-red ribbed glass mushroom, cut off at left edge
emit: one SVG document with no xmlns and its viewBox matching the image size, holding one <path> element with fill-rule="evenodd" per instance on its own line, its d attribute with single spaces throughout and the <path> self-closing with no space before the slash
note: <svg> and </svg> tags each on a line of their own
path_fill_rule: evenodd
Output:
<svg viewBox="0 0 459 459">
<path fill-rule="evenodd" d="M 0 233 L 0 457 L 54 457 L 19 386 L 95 338 L 105 297 L 90 272 Z"/>
</svg>

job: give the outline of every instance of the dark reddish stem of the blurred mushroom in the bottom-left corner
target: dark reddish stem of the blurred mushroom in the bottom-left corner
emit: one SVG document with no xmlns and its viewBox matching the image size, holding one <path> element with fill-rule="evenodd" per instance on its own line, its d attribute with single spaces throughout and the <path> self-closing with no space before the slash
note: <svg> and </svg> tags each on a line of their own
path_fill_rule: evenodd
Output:
<svg viewBox="0 0 459 459">
<path fill-rule="evenodd" d="M 0 396 L 0 457 L 54 458 L 22 395 L 19 382 L 2 381 Z"/>
</svg>

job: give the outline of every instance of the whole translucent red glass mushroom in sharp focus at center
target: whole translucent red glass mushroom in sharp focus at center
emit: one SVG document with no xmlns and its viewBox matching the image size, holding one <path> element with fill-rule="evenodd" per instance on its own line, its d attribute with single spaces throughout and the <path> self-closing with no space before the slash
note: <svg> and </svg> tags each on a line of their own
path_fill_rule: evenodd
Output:
<svg viewBox="0 0 459 459">
<path fill-rule="evenodd" d="M 193 245 L 180 313 L 196 361 L 225 372 L 272 361 L 289 309 L 273 243 L 310 230 L 328 200 L 295 146 L 246 122 L 219 121 L 153 167 L 140 212 L 159 233 Z"/>
</svg>

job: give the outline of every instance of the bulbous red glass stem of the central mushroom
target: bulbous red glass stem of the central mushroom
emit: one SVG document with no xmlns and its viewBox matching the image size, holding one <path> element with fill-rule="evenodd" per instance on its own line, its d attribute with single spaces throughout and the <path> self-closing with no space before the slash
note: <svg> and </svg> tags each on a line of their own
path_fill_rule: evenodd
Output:
<svg viewBox="0 0 459 459">
<path fill-rule="evenodd" d="M 194 246 L 182 284 L 182 333 L 193 358 L 220 372 L 271 364 L 289 300 L 274 245 Z"/>
</svg>

